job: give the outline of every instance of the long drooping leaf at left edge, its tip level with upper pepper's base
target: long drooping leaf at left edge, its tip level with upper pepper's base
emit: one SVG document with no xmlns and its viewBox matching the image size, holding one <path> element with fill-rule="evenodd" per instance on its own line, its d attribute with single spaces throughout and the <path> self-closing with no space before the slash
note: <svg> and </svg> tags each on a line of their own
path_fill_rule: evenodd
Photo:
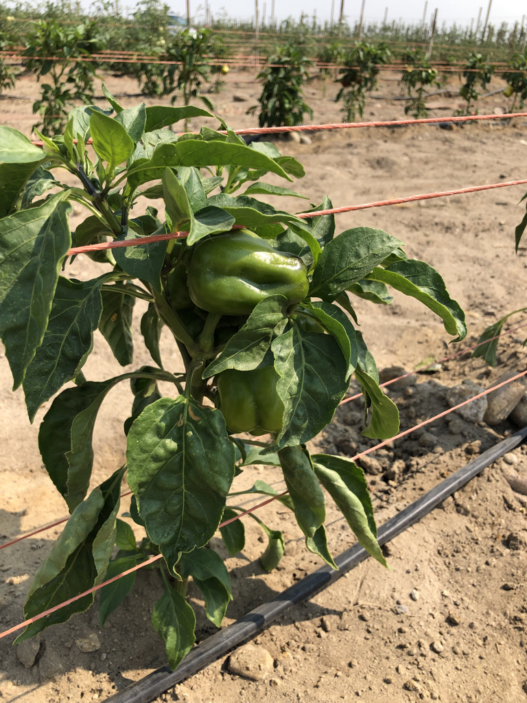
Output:
<svg viewBox="0 0 527 703">
<path fill-rule="evenodd" d="M 40 346 L 71 245 L 64 193 L 0 220 L 0 337 L 14 388 Z"/>
</svg>

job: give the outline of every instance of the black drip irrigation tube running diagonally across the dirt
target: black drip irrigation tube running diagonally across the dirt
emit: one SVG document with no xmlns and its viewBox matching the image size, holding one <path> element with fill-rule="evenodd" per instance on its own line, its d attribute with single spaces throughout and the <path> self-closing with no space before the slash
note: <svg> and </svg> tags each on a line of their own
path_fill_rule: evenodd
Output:
<svg viewBox="0 0 527 703">
<path fill-rule="evenodd" d="M 458 469 L 453 475 L 434 486 L 431 491 L 428 491 L 424 496 L 418 498 L 417 501 L 408 505 L 408 508 L 401 510 L 397 515 L 393 515 L 389 520 L 386 520 L 382 527 L 379 528 L 379 534 L 377 535 L 379 544 L 386 544 L 386 542 L 391 541 L 408 527 L 411 527 L 412 524 L 419 522 L 422 517 L 428 515 L 439 503 L 442 503 L 445 498 L 462 488 L 488 465 L 503 456 L 507 451 L 511 451 L 522 444 L 526 437 L 527 427 L 523 427 L 523 430 L 515 432 L 511 437 L 507 437 L 507 439 L 498 442 L 491 449 L 487 449 L 478 458 Z M 240 620 L 194 647 L 175 671 L 170 671 L 169 666 L 162 666 L 161 669 L 152 671 L 140 681 L 136 681 L 136 683 L 132 683 L 122 691 L 112 695 L 107 701 L 111 703 L 148 703 L 169 690 L 169 688 L 172 688 L 172 686 L 181 683 L 189 676 L 193 676 L 197 671 L 203 669 L 204 666 L 224 657 L 230 650 L 246 643 L 263 631 L 289 607 L 311 598 L 315 593 L 330 586 L 331 583 L 344 576 L 346 572 L 354 569 L 368 556 L 367 551 L 360 544 L 354 544 L 353 547 L 346 549 L 335 559 L 339 571 L 336 572 L 327 565 L 320 567 L 312 574 L 304 576 L 301 581 L 294 583 L 293 586 L 286 588 L 285 591 L 276 595 L 275 598 L 271 598 L 263 605 L 254 608 Z"/>
</svg>

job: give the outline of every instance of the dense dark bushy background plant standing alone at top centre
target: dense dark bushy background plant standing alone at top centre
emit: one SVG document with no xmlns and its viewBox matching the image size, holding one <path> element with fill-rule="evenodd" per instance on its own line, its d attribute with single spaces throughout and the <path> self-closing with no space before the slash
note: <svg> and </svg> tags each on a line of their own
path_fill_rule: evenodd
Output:
<svg viewBox="0 0 527 703">
<path fill-rule="evenodd" d="M 258 98 L 260 127 L 294 127 L 304 121 L 304 115 L 313 117 L 313 110 L 304 102 L 303 89 L 308 81 L 308 67 L 312 62 L 299 46 L 285 44 L 268 58 L 268 67 L 257 76 L 263 79 Z M 247 110 L 254 113 L 257 106 Z"/>
</svg>

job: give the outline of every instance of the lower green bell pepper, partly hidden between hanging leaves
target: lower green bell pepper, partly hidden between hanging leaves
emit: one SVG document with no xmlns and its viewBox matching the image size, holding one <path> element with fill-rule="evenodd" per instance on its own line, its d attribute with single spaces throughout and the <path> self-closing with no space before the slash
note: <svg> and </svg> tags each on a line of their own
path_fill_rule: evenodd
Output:
<svg viewBox="0 0 527 703">
<path fill-rule="evenodd" d="M 227 369 L 216 376 L 219 408 L 229 432 L 250 432 L 255 437 L 279 432 L 284 405 L 276 392 L 274 366 L 252 371 Z"/>
</svg>

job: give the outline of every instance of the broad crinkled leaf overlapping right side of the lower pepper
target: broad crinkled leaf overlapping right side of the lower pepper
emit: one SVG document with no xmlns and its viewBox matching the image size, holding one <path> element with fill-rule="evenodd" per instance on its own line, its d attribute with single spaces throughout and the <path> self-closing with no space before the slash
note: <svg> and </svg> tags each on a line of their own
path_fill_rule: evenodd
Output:
<svg viewBox="0 0 527 703">
<path fill-rule="evenodd" d="M 348 363 L 330 335 L 292 330 L 271 349 L 280 376 L 276 390 L 284 404 L 284 425 L 268 451 L 304 444 L 331 422 L 348 389 Z"/>
</svg>

